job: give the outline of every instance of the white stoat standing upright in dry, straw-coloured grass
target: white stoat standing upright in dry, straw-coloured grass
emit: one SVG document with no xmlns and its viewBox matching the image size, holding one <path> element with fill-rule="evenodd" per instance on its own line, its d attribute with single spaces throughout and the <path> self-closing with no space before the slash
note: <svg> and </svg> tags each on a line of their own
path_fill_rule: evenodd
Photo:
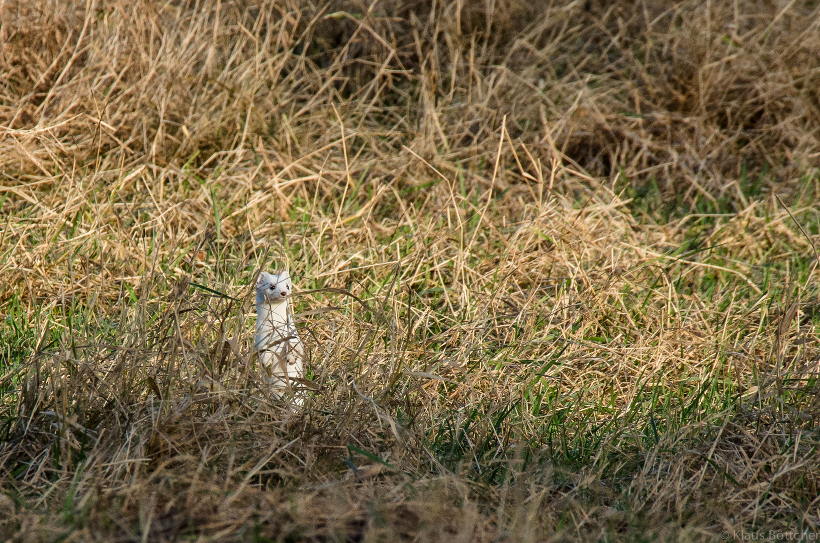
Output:
<svg viewBox="0 0 820 543">
<path fill-rule="evenodd" d="M 294 386 L 297 386 L 294 377 L 303 376 L 304 358 L 304 347 L 290 308 L 294 285 L 288 272 L 278 275 L 262 272 L 257 279 L 256 290 L 256 349 L 267 373 L 267 381 L 276 398 L 289 390 L 294 404 L 302 405 L 302 399 L 293 396 Z"/>
</svg>

